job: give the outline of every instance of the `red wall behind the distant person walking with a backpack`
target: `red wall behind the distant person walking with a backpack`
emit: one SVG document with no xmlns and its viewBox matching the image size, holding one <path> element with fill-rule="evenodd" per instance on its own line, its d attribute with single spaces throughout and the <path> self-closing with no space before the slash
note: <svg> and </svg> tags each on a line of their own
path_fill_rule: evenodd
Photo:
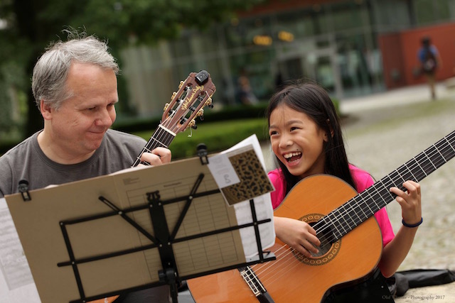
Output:
<svg viewBox="0 0 455 303">
<path fill-rule="evenodd" d="M 387 33 L 379 36 L 387 88 L 425 82 L 424 77 L 414 74 L 414 70 L 419 67 L 417 50 L 419 50 L 420 40 L 424 36 L 429 36 L 432 44 L 439 50 L 441 65 L 436 73 L 437 80 L 441 81 L 455 76 L 455 23 Z M 392 77 L 395 71 L 399 73 L 399 77 Z"/>
</svg>

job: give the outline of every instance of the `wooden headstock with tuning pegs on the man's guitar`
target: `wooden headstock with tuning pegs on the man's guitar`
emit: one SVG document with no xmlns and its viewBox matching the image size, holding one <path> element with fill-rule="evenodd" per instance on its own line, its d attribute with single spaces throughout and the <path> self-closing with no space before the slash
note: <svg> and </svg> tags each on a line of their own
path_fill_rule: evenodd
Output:
<svg viewBox="0 0 455 303">
<path fill-rule="evenodd" d="M 196 129 L 196 117 L 203 119 L 204 106 L 213 107 L 212 96 L 216 87 L 205 70 L 191 72 L 181 81 L 178 91 L 174 92 L 171 102 L 164 106 L 161 126 L 174 134 L 191 127 Z"/>
</svg>

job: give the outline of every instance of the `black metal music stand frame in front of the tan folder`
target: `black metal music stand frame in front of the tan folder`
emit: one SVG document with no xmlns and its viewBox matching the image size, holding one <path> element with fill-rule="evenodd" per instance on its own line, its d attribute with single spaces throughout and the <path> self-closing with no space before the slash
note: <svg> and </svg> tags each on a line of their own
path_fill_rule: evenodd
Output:
<svg viewBox="0 0 455 303">
<path fill-rule="evenodd" d="M 203 145 L 203 144 L 198 145 L 198 156 L 200 158 L 201 165 L 208 164 L 207 150 L 205 148 L 205 145 Z M 262 250 L 262 244 L 261 244 L 261 239 L 260 239 L 260 235 L 259 235 L 259 225 L 270 222 L 271 219 L 257 220 L 254 199 L 250 199 L 252 222 L 250 222 L 249 224 L 231 226 L 229 228 L 223 228 L 223 229 L 215 230 L 215 231 L 208 231 L 205 233 L 200 233 L 200 234 L 196 234 L 193 236 L 187 236 L 184 238 L 176 238 L 176 234 L 178 233 L 178 230 L 181 227 L 183 219 L 185 218 L 186 213 L 187 213 L 188 209 L 190 208 L 191 203 L 193 202 L 193 199 L 196 197 L 204 197 L 204 196 L 210 196 L 212 194 L 218 194 L 220 192 L 219 189 L 215 189 L 215 190 L 210 190 L 207 192 L 197 193 L 198 187 L 201 184 L 203 178 L 204 178 L 203 173 L 198 175 L 196 182 L 193 184 L 193 188 L 191 189 L 191 192 L 188 195 L 183 196 L 183 197 L 176 197 L 173 199 L 169 199 L 167 201 L 162 201 L 160 199 L 160 195 L 159 195 L 158 191 L 147 192 L 146 197 L 148 200 L 148 204 L 146 204 L 144 206 L 136 206 L 134 208 L 127 208 L 127 209 L 119 209 L 115 204 L 113 204 L 112 202 L 107 200 L 105 197 L 99 197 L 98 199 L 100 199 L 101 202 L 103 202 L 107 206 L 109 206 L 112 209 L 112 211 L 110 211 L 109 213 L 98 214 L 98 215 L 94 215 L 94 216 L 87 216 L 85 218 L 80 218 L 80 219 L 60 221 L 60 228 L 63 233 L 63 238 L 65 239 L 65 245 L 68 250 L 68 255 L 70 257 L 70 260 L 68 262 L 58 263 L 58 266 L 59 267 L 63 267 L 63 266 L 72 266 L 73 267 L 75 280 L 77 282 L 77 287 L 78 287 L 78 290 L 80 293 L 80 299 L 72 300 L 72 301 L 70 301 L 70 303 L 85 303 L 85 302 L 89 302 L 89 301 L 92 301 L 95 299 L 101 299 L 103 297 L 111 297 L 111 296 L 114 296 L 117 294 L 120 294 L 120 295 L 127 294 L 129 292 L 134 292 L 137 290 L 144 290 L 147 288 L 157 287 L 160 285 L 169 286 L 172 302 L 177 303 L 178 302 L 178 286 L 177 285 L 179 283 L 181 283 L 183 280 L 188 280 L 188 279 L 200 277 L 203 275 L 210 275 L 215 272 L 221 272 L 224 270 L 231 270 L 231 269 L 235 269 L 235 268 L 241 268 L 241 267 L 244 267 L 247 265 L 253 265 L 253 264 L 257 264 L 257 263 L 264 263 L 267 261 L 275 260 L 276 257 L 274 255 L 274 253 L 272 253 L 270 251 Z M 181 211 L 180 216 L 178 217 L 176 226 L 173 228 L 172 233 L 169 233 L 168 224 L 167 224 L 166 216 L 164 213 L 164 206 L 166 204 L 171 204 L 171 203 L 181 202 L 181 201 L 186 201 L 186 204 L 183 207 L 183 210 Z M 129 212 L 139 211 L 141 209 L 149 209 L 149 214 L 150 214 L 152 226 L 154 228 L 155 236 L 152 236 L 143 227 L 141 227 L 139 224 L 137 224 L 136 221 L 134 221 L 127 215 Z M 146 236 L 146 238 L 149 238 L 149 240 L 153 244 L 142 246 L 139 248 L 133 248 L 133 249 L 127 249 L 127 250 L 107 253 L 104 255 L 97 255 L 97 256 L 90 257 L 90 258 L 76 259 L 75 255 L 73 253 L 73 249 L 72 249 L 71 242 L 70 242 L 70 237 L 68 236 L 68 231 L 67 231 L 66 226 L 72 225 L 72 224 L 80 224 L 83 222 L 96 220 L 96 219 L 102 219 L 107 216 L 115 216 L 115 215 L 122 216 L 122 219 L 127 221 L 134 228 L 136 228 L 137 231 L 139 231 L 139 233 L 142 233 L 144 236 Z M 255 237 L 256 237 L 257 249 L 258 249 L 257 251 L 259 252 L 256 257 L 250 258 L 249 260 L 247 260 L 246 263 L 225 266 L 222 268 L 217 268 L 215 270 L 198 272 L 196 274 L 186 275 L 183 277 L 178 275 L 178 270 L 177 270 L 177 266 L 176 266 L 176 257 L 173 253 L 173 248 L 172 248 L 173 243 L 178 243 L 178 242 L 182 242 L 182 241 L 190 241 L 195 238 L 203 238 L 205 236 L 211 236 L 211 235 L 215 235 L 218 233 L 225 233 L 228 231 L 234 231 L 236 229 L 247 228 L 247 227 L 253 227 L 255 229 Z M 77 269 L 77 265 L 82 264 L 82 263 L 94 262 L 97 260 L 105 260 L 105 259 L 113 258 L 113 257 L 119 256 L 119 255 L 126 255 L 128 253 L 135 253 L 137 251 L 149 250 L 151 248 L 158 248 L 158 250 L 159 250 L 159 256 L 161 258 L 161 265 L 163 266 L 163 269 L 159 270 L 159 272 L 158 272 L 160 282 L 153 282 L 148 285 L 132 287 L 127 290 L 117 290 L 114 292 L 98 294 L 98 295 L 92 296 L 92 297 L 85 296 L 84 288 L 82 286 L 82 280 L 80 277 L 79 270 Z"/>
</svg>

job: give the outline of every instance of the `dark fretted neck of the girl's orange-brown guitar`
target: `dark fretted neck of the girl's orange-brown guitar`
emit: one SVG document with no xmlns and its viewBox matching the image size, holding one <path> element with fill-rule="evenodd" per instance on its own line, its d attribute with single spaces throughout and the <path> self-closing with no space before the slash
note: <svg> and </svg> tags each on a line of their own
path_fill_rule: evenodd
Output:
<svg viewBox="0 0 455 303">
<path fill-rule="evenodd" d="M 323 220 L 331 226 L 333 236 L 338 240 L 395 200 L 396 195 L 390 192 L 390 187 L 398 187 L 405 191 L 403 182 L 407 180 L 420 182 L 454 156 L 455 131 L 331 211 Z"/>
</svg>

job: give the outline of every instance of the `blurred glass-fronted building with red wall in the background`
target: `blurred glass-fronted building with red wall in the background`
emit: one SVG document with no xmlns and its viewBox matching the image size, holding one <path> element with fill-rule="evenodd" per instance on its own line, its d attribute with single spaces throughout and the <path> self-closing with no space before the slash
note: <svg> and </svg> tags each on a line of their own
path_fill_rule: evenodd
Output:
<svg viewBox="0 0 455 303">
<path fill-rule="evenodd" d="M 200 16 L 204 18 L 204 16 Z M 423 83 L 415 70 L 423 35 L 443 59 L 437 79 L 454 76 L 455 0 L 269 0 L 230 23 L 155 48 L 124 52 L 130 99 L 159 114 L 189 72 L 208 70 L 216 103 L 234 104 L 245 73 L 258 99 L 277 82 L 311 78 L 343 99 Z"/>
</svg>

